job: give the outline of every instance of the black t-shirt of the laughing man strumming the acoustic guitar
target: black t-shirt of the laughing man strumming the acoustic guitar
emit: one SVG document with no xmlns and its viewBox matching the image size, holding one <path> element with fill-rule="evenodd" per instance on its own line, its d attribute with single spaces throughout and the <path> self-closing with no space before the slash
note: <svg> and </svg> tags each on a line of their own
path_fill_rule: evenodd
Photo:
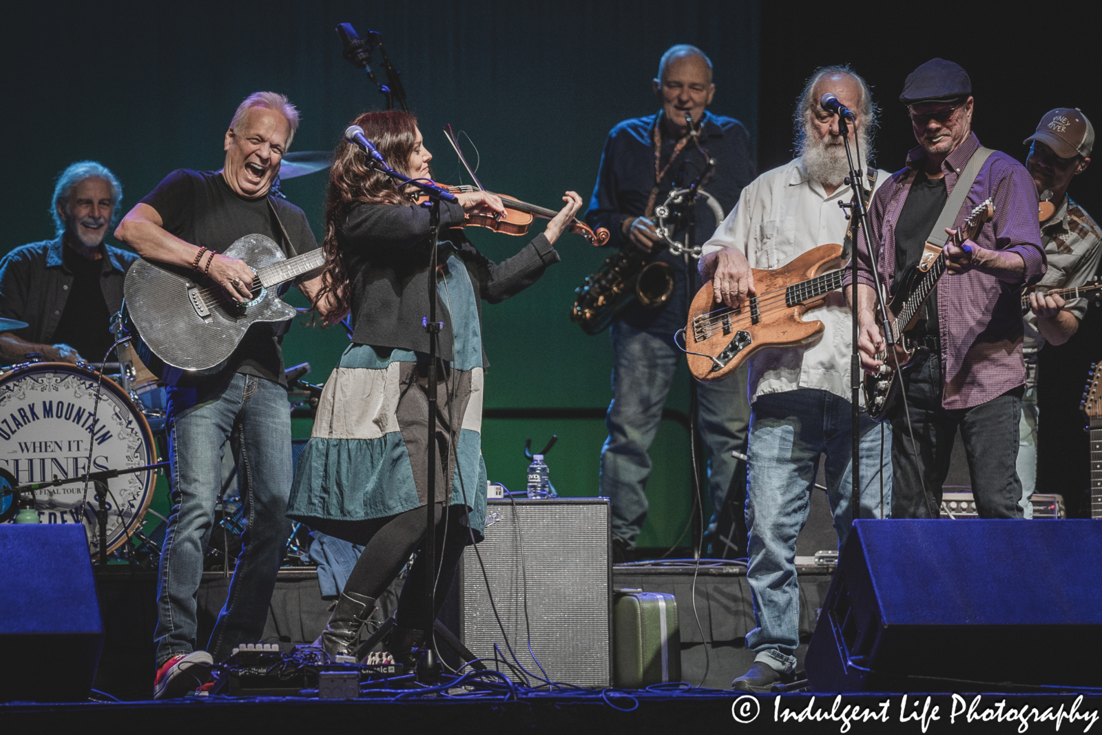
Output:
<svg viewBox="0 0 1102 735">
<path fill-rule="evenodd" d="M 272 215 L 269 202 L 274 204 L 279 219 L 287 228 L 293 251 L 288 248 L 287 238 Z M 215 252 L 225 252 L 235 240 L 253 233 L 270 237 L 288 257 L 317 248 L 302 209 L 271 196 L 242 198 L 217 171 L 177 169 L 165 176 L 142 199 L 142 204 L 156 209 L 165 230 Z M 282 336 L 276 336 L 271 325 L 252 325 L 230 356 L 226 370 L 285 385 L 281 341 Z"/>
</svg>

